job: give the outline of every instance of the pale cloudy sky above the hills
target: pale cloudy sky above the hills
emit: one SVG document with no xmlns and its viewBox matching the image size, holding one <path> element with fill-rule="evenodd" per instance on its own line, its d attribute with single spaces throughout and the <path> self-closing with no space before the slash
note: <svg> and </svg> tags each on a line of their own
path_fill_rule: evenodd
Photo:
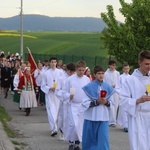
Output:
<svg viewBox="0 0 150 150">
<path fill-rule="evenodd" d="M 119 13 L 119 0 L 22 0 L 23 14 L 40 14 L 50 17 L 95 17 L 107 12 L 112 5 L 116 19 L 123 21 Z M 130 3 L 132 0 L 125 0 Z M 19 15 L 21 0 L 0 0 L 0 18 Z"/>
</svg>

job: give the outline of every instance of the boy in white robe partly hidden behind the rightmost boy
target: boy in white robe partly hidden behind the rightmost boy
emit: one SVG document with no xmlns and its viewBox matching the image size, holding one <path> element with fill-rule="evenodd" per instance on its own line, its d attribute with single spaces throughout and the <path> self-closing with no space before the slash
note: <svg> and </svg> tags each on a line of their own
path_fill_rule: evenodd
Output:
<svg viewBox="0 0 150 150">
<path fill-rule="evenodd" d="M 130 71 L 129 65 L 124 64 L 123 65 L 123 74 L 119 76 L 119 80 L 117 81 L 117 84 L 116 84 L 116 87 L 115 87 L 115 90 L 118 94 L 120 94 L 120 90 L 121 90 L 122 85 L 124 84 L 126 78 L 130 76 L 129 71 Z M 119 104 L 117 124 L 119 126 L 123 127 L 124 132 L 128 132 L 128 116 L 127 116 L 127 113 L 120 106 L 120 104 Z"/>
</svg>

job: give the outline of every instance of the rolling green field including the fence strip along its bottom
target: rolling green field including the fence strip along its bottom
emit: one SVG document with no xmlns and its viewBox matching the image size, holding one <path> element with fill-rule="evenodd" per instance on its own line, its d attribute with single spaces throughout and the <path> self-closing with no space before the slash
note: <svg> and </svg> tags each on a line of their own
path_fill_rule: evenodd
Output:
<svg viewBox="0 0 150 150">
<path fill-rule="evenodd" d="M 24 32 L 24 60 L 29 47 L 35 61 L 56 56 L 64 63 L 85 60 L 89 67 L 101 64 L 108 67 L 108 54 L 100 40 L 100 33 L 90 32 Z M 5 54 L 20 53 L 20 33 L 0 31 L 0 50 Z"/>
</svg>

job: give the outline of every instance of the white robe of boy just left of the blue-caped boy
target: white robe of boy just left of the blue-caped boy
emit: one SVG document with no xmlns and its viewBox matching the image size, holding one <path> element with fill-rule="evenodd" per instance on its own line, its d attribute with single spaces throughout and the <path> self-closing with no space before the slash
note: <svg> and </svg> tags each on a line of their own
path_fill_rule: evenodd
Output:
<svg viewBox="0 0 150 150">
<path fill-rule="evenodd" d="M 70 76 L 64 86 L 66 93 L 65 100 L 68 102 L 68 130 L 66 135 L 67 141 L 82 141 L 83 129 L 83 111 L 81 111 L 83 95 L 85 95 L 82 87 L 90 82 L 87 76 L 79 77 L 77 74 Z M 74 98 L 70 100 L 70 88 L 75 89 Z"/>
</svg>

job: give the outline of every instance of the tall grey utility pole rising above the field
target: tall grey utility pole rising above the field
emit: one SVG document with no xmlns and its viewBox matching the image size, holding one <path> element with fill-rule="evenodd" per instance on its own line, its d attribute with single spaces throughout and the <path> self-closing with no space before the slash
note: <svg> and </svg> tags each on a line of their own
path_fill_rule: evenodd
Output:
<svg viewBox="0 0 150 150">
<path fill-rule="evenodd" d="M 20 56 L 23 59 L 23 0 L 20 7 Z"/>
</svg>

